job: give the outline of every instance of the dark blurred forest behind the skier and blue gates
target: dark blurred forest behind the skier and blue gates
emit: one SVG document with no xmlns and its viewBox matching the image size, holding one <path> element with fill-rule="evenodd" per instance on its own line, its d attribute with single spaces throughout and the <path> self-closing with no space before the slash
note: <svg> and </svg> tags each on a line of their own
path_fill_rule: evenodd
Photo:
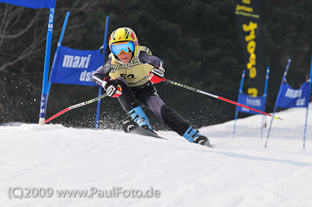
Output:
<svg viewBox="0 0 312 207">
<path fill-rule="evenodd" d="M 271 69 L 266 112 L 271 112 L 287 60 L 292 60 L 288 83 L 295 89 L 309 74 L 312 6 L 308 0 L 265 0 L 260 5 L 267 64 Z M 105 17 L 109 15 L 108 34 L 121 26 L 135 30 L 139 44 L 148 46 L 153 55 L 164 60 L 168 79 L 237 100 L 245 66 L 235 6 L 235 1 L 229 0 L 57 1 L 51 64 L 67 10 L 71 15 L 62 45 L 76 49 L 96 49 L 103 44 Z M 48 14 L 48 9 L 0 3 L 0 123 L 37 123 Z M 235 106 L 227 102 L 164 82 L 157 84 L 157 89 L 168 106 L 196 127 L 234 118 Z M 46 118 L 96 96 L 98 87 L 53 84 Z M 53 123 L 94 127 L 95 114 L 96 104 L 87 105 L 67 112 Z M 147 114 L 157 129 L 164 128 L 153 114 Z M 120 127 L 126 118 L 117 100 L 102 100 L 102 128 Z"/>
</svg>

